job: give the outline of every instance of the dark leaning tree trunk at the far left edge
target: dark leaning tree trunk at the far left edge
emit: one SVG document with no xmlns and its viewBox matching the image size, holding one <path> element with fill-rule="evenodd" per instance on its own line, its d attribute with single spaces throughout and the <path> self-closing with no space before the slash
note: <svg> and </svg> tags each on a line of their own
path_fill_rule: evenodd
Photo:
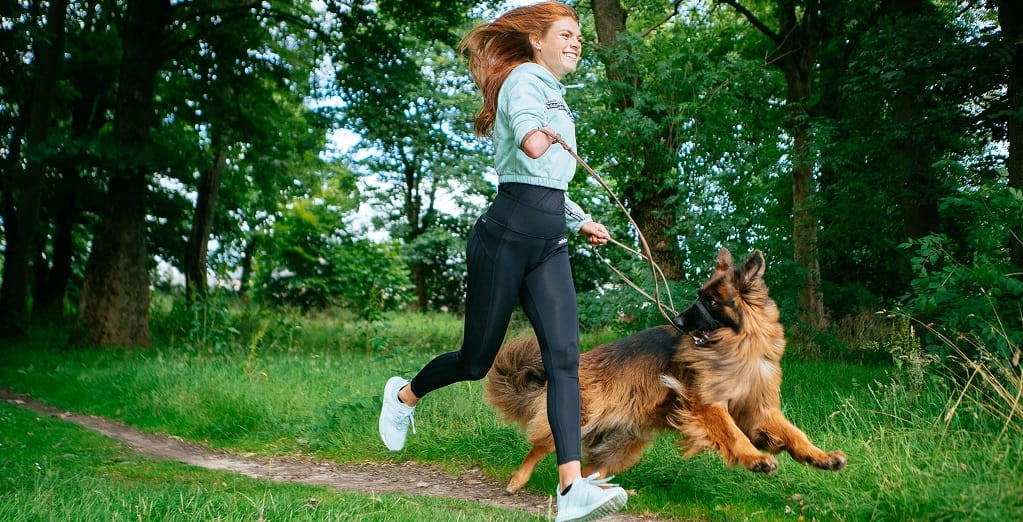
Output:
<svg viewBox="0 0 1023 522">
<path fill-rule="evenodd" d="M 28 156 L 24 176 L 11 185 L 13 212 L 5 220 L 3 284 L 0 287 L 0 335 L 21 335 L 28 315 L 29 260 L 32 257 L 39 226 L 46 166 L 40 159 L 42 145 L 49 134 L 53 93 L 60 77 L 63 56 L 64 20 L 68 0 L 51 0 L 46 12 L 46 34 L 35 41 L 35 85 L 29 105 L 26 138 Z M 17 172 L 17 170 L 13 171 Z M 8 175 L 13 176 L 13 172 Z M 13 218 L 10 220 L 9 218 Z"/>
</svg>

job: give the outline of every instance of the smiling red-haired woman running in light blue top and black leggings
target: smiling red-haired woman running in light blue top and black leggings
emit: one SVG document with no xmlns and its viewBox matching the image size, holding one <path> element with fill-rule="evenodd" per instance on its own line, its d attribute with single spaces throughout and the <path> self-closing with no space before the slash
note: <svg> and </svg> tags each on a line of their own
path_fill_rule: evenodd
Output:
<svg viewBox="0 0 1023 522">
<path fill-rule="evenodd" d="M 576 70 L 582 51 L 579 15 L 559 2 L 518 7 L 473 29 L 459 50 L 469 54 L 470 73 L 483 93 L 474 129 L 493 139 L 497 197 L 466 245 L 461 348 L 437 356 L 411 381 L 393 377 L 387 382 L 381 438 L 388 449 L 403 448 L 424 396 L 486 377 L 518 301 L 539 341 L 547 374 L 547 420 L 561 482 L 555 520 L 595 520 L 621 510 L 628 495 L 607 478 L 581 476 L 579 311 L 568 232 L 581 233 L 592 246 L 611 235 L 566 194 L 575 159 L 563 146 L 552 146 L 557 136 L 576 148 L 575 122 L 561 80 Z"/>
</svg>

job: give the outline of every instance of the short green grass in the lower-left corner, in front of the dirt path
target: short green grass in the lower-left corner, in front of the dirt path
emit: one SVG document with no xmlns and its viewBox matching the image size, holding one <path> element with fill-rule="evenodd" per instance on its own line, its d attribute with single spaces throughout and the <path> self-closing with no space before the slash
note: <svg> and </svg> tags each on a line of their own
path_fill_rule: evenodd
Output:
<svg viewBox="0 0 1023 522">
<path fill-rule="evenodd" d="M 340 493 L 154 461 L 6 403 L 0 425 L 0 520 L 536 520 L 444 498 Z"/>
</svg>

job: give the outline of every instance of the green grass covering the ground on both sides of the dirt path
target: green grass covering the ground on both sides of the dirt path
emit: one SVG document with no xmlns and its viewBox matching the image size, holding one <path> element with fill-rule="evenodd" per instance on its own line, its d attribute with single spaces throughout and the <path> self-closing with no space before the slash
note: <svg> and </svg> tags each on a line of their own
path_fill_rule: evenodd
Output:
<svg viewBox="0 0 1023 522">
<path fill-rule="evenodd" d="M 367 323 L 346 316 L 300 319 L 250 312 L 243 321 L 224 320 L 233 325 L 207 329 L 205 338 L 170 321 L 161 323 L 166 330 L 160 337 L 170 341 L 149 350 L 62 351 L 56 333 L 40 333 L 32 342 L 0 351 L 0 385 L 58 407 L 240 452 L 336 462 L 411 460 L 452 472 L 477 468 L 503 481 L 528 450 L 519 430 L 497 421 L 483 402 L 482 383 L 459 383 L 425 400 L 416 412 L 418 434 L 410 436 L 403 451 L 391 453 L 379 443 L 375 419 L 383 382 L 394 374 L 409 375 L 434 355 L 455 349 L 461 327 L 457 318 L 397 315 Z M 516 332 L 526 330 L 521 322 L 514 325 Z M 583 344 L 607 340 L 608 333 L 596 333 L 585 336 Z M 849 455 L 845 470 L 820 472 L 780 455 L 777 472 L 755 475 L 726 468 L 716 453 L 683 460 L 675 450 L 675 436 L 666 434 L 636 467 L 619 475 L 621 484 L 639 493 L 630 497 L 627 511 L 698 520 L 1023 517 L 1023 434 L 992 416 L 990 404 L 957 400 L 962 389 L 946 376 L 928 372 L 926 379 L 910 380 L 894 366 L 835 361 L 787 359 L 783 367 L 786 415 L 820 447 L 843 449 Z M 41 515 L 26 511 L 29 508 L 4 511 L 11 509 L 7 498 L 20 505 L 59 496 L 61 503 L 84 505 L 92 502 L 94 488 L 110 498 L 98 503 L 105 511 L 88 517 L 97 519 L 124 518 L 113 516 L 117 506 L 131 506 L 136 510 L 131 513 L 140 514 L 148 503 L 161 510 L 154 518 L 195 520 L 218 518 L 213 514 L 221 512 L 230 514 L 226 518 L 253 520 L 257 505 L 277 510 L 267 520 L 333 518 L 323 515 L 327 506 L 351 508 L 337 513 L 354 520 L 425 519 L 435 515 L 417 510 L 435 506 L 441 512 L 479 509 L 419 498 L 389 504 L 166 463 L 148 462 L 138 469 L 149 471 L 126 474 L 112 463 L 144 460 L 81 430 L 74 436 L 50 436 L 50 442 L 62 440 L 68 449 L 39 444 L 29 452 L 35 456 L 23 459 L 10 454 L 10 445 L 32 442 L 19 435 L 26 423 L 45 425 L 47 432 L 76 430 L 58 421 L 24 419 L 28 414 L 8 406 L 0 411 L 6 416 L 4 425 L 7 418 L 20 419 L 23 425 L 3 430 L 0 460 L 21 463 L 16 470 L 5 464 L 0 471 L 3 520 L 10 518 L 7 514 L 14 519 L 59 519 L 66 513 L 45 503 Z M 90 456 L 63 462 L 65 451 Z M 34 470 L 33 462 L 49 464 Z M 179 475 L 189 478 L 182 481 Z M 84 480 L 75 478 L 79 476 Z M 92 482 L 94 487 L 82 485 Z M 219 488 L 221 482 L 232 486 Z M 547 458 L 527 488 L 546 493 L 555 482 L 554 463 Z M 317 512 L 304 507 L 303 498 L 308 497 L 321 501 Z M 173 512 L 179 509 L 174 503 L 194 505 L 194 510 L 187 515 Z"/>
</svg>

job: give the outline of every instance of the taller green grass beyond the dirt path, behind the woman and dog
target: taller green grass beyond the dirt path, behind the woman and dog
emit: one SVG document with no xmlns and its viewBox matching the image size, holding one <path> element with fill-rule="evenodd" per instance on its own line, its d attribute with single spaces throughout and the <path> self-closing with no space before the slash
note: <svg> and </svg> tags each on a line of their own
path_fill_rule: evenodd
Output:
<svg viewBox="0 0 1023 522">
<path fill-rule="evenodd" d="M 457 317 L 365 321 L 341 312 L 299 316 L 234 306 L 221 306 L 222 316 L 166 308 L 154 318 L 164 341 L 150 350 L 65 352 L 53 341 L 44 342 L 51 348 L 15 346 L 0 352 L 0 385 L 66 409 L 258 454 L 414 460 L 451 472 L 476 468 L 504 481 L 529 449 L 520 430 L 501 424 L 484 403 L 482 383 L 427 397 L 416 411 L 418 433 L 403 451 L 386 451 L 377 440 L 383 383 L 456 349 Z M 192 329 L 209 317 L 223 322 Z M 518 319 L 509 335 L 525 332 Z M 583 348 L 616 335 L 587 333 Z M 47 336 L 57 337 L 39 338 Z M 820 447 L 844 450 L 845 470 L 820 472 L 780 455 L 777 472 L 756 475 L 725 467 L 715 453 L 683 460 L 677 436 L 665 434 L 618 477 L 637 491 L 627 510 L 707 520 L 1023 518 L 1020 385 L 1009 372 L 1015 366 L 938 361 L 921 356 L 914 337 L 904 325 L 892 327 L 885 344 L 887 360 L 895 362 L 887 365 L 783 361 L 786 415 Z M 988 383 L 985 373 L 1000 384 Z M 546 494 L 555 484 L 548 458 L 527 487 Z M 41 494 L 18 487 L 19 494 Z M 191 502 L 204 506 L 214 502 L 207 490 L 178 494 L 195 495 Z M 383 509 L 396 510 L 392 520 L 412 519 L 402 518 L 412 515 L 400 507 Z"/>
</svg>

